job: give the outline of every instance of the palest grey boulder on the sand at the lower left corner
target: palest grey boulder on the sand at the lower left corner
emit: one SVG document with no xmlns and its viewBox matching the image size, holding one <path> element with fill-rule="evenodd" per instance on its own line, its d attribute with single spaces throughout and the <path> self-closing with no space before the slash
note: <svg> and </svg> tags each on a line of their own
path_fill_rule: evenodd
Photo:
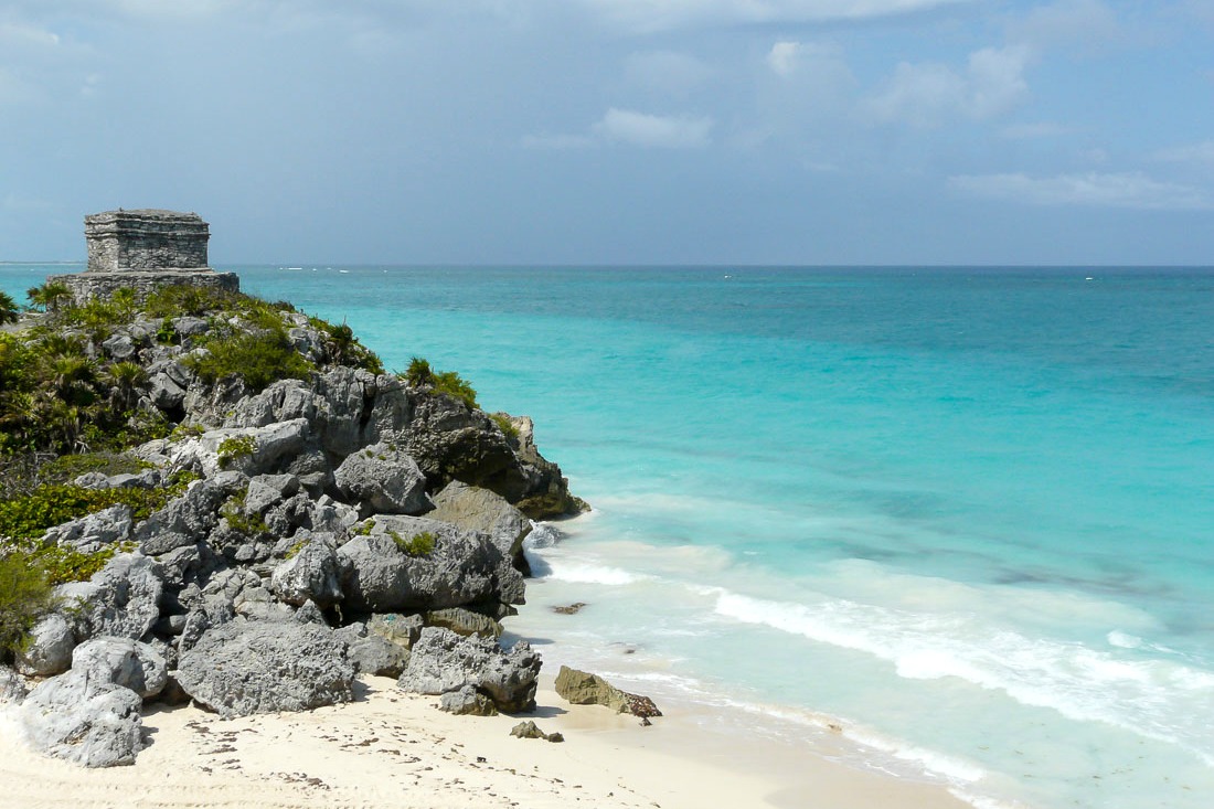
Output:
<svg viewBox="0 0 1214 809">
<path fill-rule="evenodd" d="M 29 743 L 49 756 L 84 766 L 134 764 L 143 747 L 142 705 L 135 691 L 73 669 L 30 691 L 19 720 Z"/>
</svg>

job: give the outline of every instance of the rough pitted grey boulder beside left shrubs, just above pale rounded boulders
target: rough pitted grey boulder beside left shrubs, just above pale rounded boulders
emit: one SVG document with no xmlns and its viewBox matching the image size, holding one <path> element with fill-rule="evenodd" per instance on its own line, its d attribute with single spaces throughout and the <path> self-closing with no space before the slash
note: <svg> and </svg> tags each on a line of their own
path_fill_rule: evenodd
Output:
<svg viewBox="0 0 1214 809">
<path fill-rule="evenodd" d="M 87 582 L 61 584 L 55 594 L 76 606 L 76 641 L 114 635 L 138 640 L 160 617 L 164 584 L 155 564 L 142 554 L 118 554 Z"/>
</svg>

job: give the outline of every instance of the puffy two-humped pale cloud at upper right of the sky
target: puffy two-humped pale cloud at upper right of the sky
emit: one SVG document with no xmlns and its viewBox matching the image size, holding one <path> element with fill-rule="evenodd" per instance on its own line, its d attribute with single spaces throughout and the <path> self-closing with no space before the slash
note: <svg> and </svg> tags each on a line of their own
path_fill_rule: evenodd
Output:
<svg viewBox="0 0 1214 809">
<path fill-rule="evenodd" d="M 944 64 L 902 62 L 867 107 L 878 121 L 921 128 L 958 115 L 993 118 L 1027 98 L 1023 73 L 1029 57 L 1031 51 L 1021 46 L 987 47 L 970 53 L 964 73 Z"/>
</svg>

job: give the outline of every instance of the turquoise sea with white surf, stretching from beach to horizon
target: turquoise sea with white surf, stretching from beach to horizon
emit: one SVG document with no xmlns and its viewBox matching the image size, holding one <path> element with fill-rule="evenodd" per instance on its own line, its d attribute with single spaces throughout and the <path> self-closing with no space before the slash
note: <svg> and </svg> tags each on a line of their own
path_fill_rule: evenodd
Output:
<svg viewBox="0 0 1214 809">
<path fill-rule="evenodd" d="M 222 268 L 535 419 L 595 507 L 549 666 L 978 807 L 1214 799 L 1214 270 Z"/>
</svg>

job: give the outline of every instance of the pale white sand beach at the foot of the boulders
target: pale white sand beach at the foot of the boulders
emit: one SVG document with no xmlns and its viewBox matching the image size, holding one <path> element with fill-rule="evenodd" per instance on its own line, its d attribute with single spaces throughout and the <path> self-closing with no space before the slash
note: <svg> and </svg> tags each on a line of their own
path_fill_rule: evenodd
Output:
<svg viewBox="0 0 1214 809">
<path fill-rule="evenodd" d="M 549 680 L 548 685 L 551 685 Z M 528 717 L 563 743 L 515 739 L 518 717 L 452 717 L 386 678 L 310 713 L 144 715 L 134 766 L 86 770 L 29 751 L 0 719 L 0 807 L 959 809 L 942 787 L 860 773 L 771 743 L 738 749 L 668 715 L 642 728 L 541 689 Z"/>
</svg>

